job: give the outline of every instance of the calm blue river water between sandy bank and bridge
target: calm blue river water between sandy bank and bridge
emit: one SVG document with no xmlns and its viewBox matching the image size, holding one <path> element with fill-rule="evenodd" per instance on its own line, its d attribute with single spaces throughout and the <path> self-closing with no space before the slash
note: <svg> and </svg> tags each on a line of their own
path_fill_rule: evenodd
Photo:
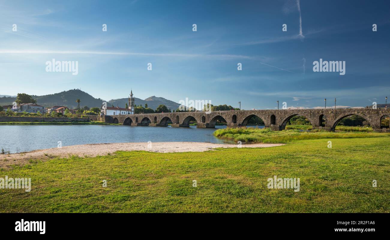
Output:
<svg viewBox="0 0 390 240">
<path fill-rule="evenodd" d="M 229 141 L 213 136 L 216 128 L 190 127 L 130 127 L 113 125 L 2 125 L 0 149 L 11 153 L 87 143 L 137 143 L 137 142 L 210 142 Z M 259 126 L 264 127 L 264 126 Z M 231 141 L 229 142 L 231 143 Z"/>
</svg>

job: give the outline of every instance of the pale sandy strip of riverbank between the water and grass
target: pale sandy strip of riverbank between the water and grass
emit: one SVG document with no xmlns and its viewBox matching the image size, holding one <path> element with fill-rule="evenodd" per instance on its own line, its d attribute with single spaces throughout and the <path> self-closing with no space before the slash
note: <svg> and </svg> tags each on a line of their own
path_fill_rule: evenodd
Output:
<svg viewBox="0 0 390 240">
<path fill-rule="evenodd" d="M 271 146 L 281 146 L 284 144 L 256 143 L 241 145 L 244 148 L 265 148 Z M 30 159 L 46 161 L 55 157 L 69 157 L 78 155 L 79 157 L 96 157 L 97 155 L 112 154 L 116 151 L 134 151 L 143 150 L 149 152 L 204 152 L 213 150 L 213 148 L 234 148 L 234 144 L 217 144 L 217 143 L 198 143 L 198 142 L 163 142 L 151 143 L 98 143 L 63 146 L 62 148 L 49 148 L 35 150 L 20 154 L 1 154 L 0 168 L 9 168 L 9 166 L 18 164 L 24 165 L 29 163 Z"/>
</svg>

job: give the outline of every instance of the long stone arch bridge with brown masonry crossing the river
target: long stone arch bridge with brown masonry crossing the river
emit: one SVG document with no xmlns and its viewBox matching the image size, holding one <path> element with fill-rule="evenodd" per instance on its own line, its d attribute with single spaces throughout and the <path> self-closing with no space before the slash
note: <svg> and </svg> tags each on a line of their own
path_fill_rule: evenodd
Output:
<svg viewBox="0 0 390 240">
<path fill-rule="evenodd" d="M 98 117 L 99 121 L 106 123 L 119 123 L 131 126 L 168 126 L 189 127 L 190 120 L 195 118 L 197 127 L 215 127 L 216 121 L 223 117 L 228 127 L 245 126 L 253 116 L 258 116 L 264 121 L 265 127 L 272 130 L 283 130 L 287 122 L 293 116 L 305 116 L 312 124 L 313 129 L 325 129 L 334 131 L 342 118 L 358 115 L 367 120 L 376 131 L 388 131 L 381 129 L 381 118 L 390 116 L 390 109 L 380 108 L 353 108 L 353 109 L 280 109 L 280 110 L 237 110 L 237 111 L 203 111 L 176 112 L 176 113 L 145 113 L 133 115 L 112 115 Z M 325 124 L 324 120 L 326 118 Z"/>
</svg>

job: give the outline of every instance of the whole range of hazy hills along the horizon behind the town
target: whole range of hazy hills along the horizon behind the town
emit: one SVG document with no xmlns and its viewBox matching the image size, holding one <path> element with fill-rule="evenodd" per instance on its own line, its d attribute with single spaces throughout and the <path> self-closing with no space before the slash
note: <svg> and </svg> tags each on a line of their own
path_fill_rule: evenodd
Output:
<svg viewBox="0 0 390 240">
<path fill-rule="evenodd" d="M 1 95 L 4 96 L 4 95 Z M 7 95 L 5 95 L 7 96 Z M 4 105 L 10 105 L 12 102 L 16 101 L 16 97 L 0 97 L 0 106 Z M 49 94 L 49 95 L 43 95 L 43 96 L 36 96 L 32 95 L 34 99 L 37 100 L 37 104 L 42 105 L 46 108 L 51 106 L 66 106 L 68 108 L 74 109 L 77 108 L 78 104 L 76 102 L 76 99 L 80 99 L 80 108 L 83 106 L 88 106 L 89 108 L 92 107 L 99 107 L 104 102 L 103 99 L 100 98 L 94 98 L 91 95 L 87 94 L 86 92 L 83 92 L 79 89 L 73 89 L 68 90 L 56 94 Z M 114 105 L 119 106 L 121 108 L 124 108 L 126 106 L 126 103 L 128 103 L 128 98 L 121 98 L 121 99 L 113 99 L 107 102 L 108 106 Z M 179 108 L 180 104 L 167 100 L 163 97 L 148 97 L 145 100 L 135 98 L 135 104 L 138 106 L 142 104 L 142 106 L 145 107 L 145 104 L 147 103 L 148 107 L 155 110 L 158 105 L 164 104 L 167 106 L 168 109 L 176 110 Z"/>
</svg>

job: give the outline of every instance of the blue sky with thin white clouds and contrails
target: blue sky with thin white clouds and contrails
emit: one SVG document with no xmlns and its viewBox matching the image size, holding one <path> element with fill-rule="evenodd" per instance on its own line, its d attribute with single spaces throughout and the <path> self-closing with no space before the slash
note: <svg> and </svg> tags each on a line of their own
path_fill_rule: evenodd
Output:
<svg viewBox="0 0 390 240">
<path fill-rule="evenodd" d="M 2 1 L 0 94 L 81 88 L 110 100 L 132 88 L 243 109 L 384 103 L 388 12 L 388 1 Z M 46 72 L 53 58 L 78 61 L 78 75 Z M 346 61 L 346 74 L 313 72 L 320 58 Z"/>
</svg>

